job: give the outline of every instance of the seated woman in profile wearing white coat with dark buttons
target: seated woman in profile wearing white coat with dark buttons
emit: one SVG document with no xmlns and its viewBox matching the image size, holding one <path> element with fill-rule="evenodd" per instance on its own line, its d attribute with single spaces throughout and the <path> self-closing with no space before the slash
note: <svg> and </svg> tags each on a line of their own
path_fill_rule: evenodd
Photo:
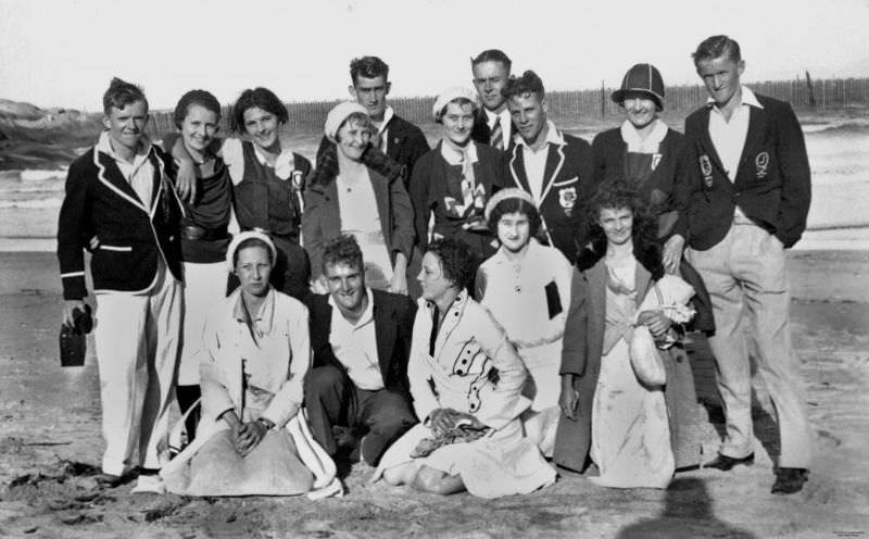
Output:
<svg viewBox="0 0 869 539">
<path fill-rule="evenodd" d="M 526 372 L 501 326 L 468 297 L 473 255 L 462 241 L 436 240 L 423 258 L 423 298 L 407 366 L 416 415 L 383 455 L 374 479 L 450 494 L 498 498 L 555 480 L 519 415 Z M 498 383 L 493 377 L 498 375 Z"/>
</svg>

